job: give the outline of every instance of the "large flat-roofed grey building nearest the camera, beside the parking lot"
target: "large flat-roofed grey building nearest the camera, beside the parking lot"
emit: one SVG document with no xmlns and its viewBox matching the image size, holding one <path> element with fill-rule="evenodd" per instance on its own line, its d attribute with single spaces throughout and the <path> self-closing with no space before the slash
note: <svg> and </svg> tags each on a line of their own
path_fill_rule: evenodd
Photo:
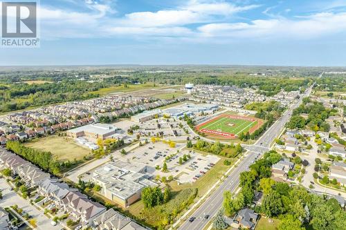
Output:
<svg viewBox="0 0 346 230">
<path fill-rule="evenodd" d="M 145 164 L 120 160 L 104 164 L 93 173 L 93 181 L 102 187 L 100 193 L 122 207 L 128 207 L 140 199 L 145 187 L 157 186 L 150 178 L 152 175 L 147 173 Z"/>
</svg>

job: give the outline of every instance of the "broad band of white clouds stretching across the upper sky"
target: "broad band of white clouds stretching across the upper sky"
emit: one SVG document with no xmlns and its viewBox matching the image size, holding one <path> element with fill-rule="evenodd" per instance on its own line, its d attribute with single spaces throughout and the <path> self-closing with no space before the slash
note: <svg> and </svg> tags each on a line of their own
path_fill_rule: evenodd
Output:
<svg viewBox="0 0 346 230">
<path fill-rule="evenodd" d="M 346 12 L 321 12 L 293 19 L 273 17 L 230 23 L 230 16 L 258 6 L 237 6 L 224 1 L 191 0 L 173 10 L 132 12 L 124 17 L 109 17 L 116 12 L 109 1 L 85 0 L 89 11 L 75 12 L 42 7 L 42 39 L 60 37 L 172 37 L 185 41 L 218 42 L 228 38 L 311 39 L 346 30 Z M 268 13 L 271 8 L 264 10 Z M 194 28 L 194 23 L 203 26 Z M 218 40 L 218 41 L 217 41 Z"/>
</svg>

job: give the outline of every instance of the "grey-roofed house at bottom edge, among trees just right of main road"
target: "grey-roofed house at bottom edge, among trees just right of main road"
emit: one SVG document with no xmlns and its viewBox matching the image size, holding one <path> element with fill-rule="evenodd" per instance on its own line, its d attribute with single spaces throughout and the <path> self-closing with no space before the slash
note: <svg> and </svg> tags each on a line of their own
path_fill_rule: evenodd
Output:
<svg viewBox="0 0 346 230">
<path fill-rule="evenodd" d="M 232 227 L 237 229 L 254 229 L 258 219 L 258 214 L 255 213 L 252 209 L 242 209 L 233 218 Z"/>
</svg>

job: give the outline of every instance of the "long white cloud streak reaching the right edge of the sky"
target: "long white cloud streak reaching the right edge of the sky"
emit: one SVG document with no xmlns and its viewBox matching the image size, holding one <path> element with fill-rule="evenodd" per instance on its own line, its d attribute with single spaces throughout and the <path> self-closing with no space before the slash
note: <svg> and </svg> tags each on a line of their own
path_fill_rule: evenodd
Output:
<svg viewBox="0 0 346 230">
<path fill-rule="evenodd" d="M 203 37 L 311 39 L 346 30 L 346 13 L 319 13 L 293 19 L 253 20 L 251 23 L 209 23 L 198 28 Z"/>
</svg>

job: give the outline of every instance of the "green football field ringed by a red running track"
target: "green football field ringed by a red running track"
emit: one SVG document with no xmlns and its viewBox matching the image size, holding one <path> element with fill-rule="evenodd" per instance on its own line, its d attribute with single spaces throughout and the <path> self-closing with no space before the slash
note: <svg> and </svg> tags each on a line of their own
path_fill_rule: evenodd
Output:
<svg viewBox="0 0 346 230">
<path fill-rule="evenodd" d="M 208 135 L 235 139 L 239 133 L 253 133 L 262 124 L 262 119 L 224 113 L 199 124 L 196 129 Z"/>
</svg>

